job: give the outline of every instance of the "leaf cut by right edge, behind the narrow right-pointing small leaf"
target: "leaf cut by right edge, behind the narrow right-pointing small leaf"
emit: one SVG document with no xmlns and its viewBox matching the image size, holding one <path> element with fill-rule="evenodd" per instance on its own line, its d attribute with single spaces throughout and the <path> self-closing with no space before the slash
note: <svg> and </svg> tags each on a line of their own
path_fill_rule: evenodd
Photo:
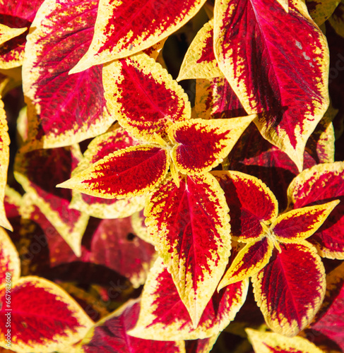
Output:
<svg viewBox="0 0 344 353">
<path fill-rule="evenodd" d="M 288 189 L 290 207 L 293 208 L 340 200 L 324 225 L 309 238 L 320 255 L 326 258 L 344 258 L 343 179 L 344 162 L 319 164 L 305 169 L 292 181 Z"/>
</svg>

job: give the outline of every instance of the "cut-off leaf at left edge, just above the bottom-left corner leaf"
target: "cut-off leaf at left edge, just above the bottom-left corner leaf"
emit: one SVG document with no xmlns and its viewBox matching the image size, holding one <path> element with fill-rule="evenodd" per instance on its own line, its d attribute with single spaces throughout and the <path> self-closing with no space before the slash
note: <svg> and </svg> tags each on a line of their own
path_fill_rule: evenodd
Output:
<svg viewBox="0 0 344 353">
<path fill-rule="evenodd" d="M 6 273 L 11 276 L 11 282 L 16 282 L 20 277 L 20 260 L 16 246 L 0 227 L 0 286 L 6 283 Z"/>
</svg>

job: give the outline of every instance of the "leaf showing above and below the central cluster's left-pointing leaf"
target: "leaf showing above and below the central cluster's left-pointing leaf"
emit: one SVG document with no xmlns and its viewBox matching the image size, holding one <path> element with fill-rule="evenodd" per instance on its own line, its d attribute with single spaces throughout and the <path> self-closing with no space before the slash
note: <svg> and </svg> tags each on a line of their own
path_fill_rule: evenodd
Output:
<svg viewBox="0 0 344 353">
<path fill-rule="evenodd" d="M 132 138 L 123 128 L 116 128 L 107 133 L 94 138 L 88 145 L 83 159 L 78 163 L 78 167 L 73 170 L 72 176 L 83 172 L 90 164 L 101 160 L 112 152 L 138 145 L 138 141 Z M 144 196 L 126 198 L 124 200 L 97 198 L 73 191 L 71 208 L 82 211 L 93 217 L 118 218 L 128 217 L 144 206 Z"/>
</svg>

